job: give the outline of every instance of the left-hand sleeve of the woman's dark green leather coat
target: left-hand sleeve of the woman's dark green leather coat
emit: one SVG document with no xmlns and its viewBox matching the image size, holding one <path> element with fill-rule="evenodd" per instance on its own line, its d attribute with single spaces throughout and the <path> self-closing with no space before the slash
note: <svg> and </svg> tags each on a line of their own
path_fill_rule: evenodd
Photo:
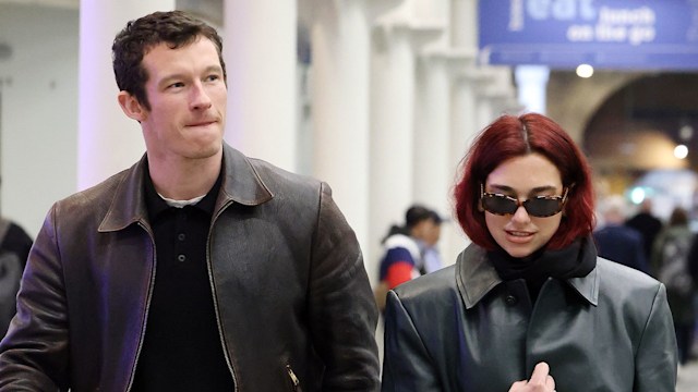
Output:
<svg viewBox="0 0 698 392">
<path fill-rule="evenodd" d="M 383 392 L 442 391 L 426 347 L 394 291 L 385 308 Z"/>
</svg>

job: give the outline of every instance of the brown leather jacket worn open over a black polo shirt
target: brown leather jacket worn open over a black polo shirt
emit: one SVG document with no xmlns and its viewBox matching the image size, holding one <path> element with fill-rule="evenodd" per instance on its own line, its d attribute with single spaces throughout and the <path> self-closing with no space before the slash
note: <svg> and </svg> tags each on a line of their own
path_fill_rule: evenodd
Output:
<svg viewBox="0 0 698 392">
<path fill-rule="evenodd" d="M 377 309 L 329 187 L 224 150 L 207 261 L 237 391 L 376 391 Z M 0 391 L 129 390 L 156 264 L 145 169 L 49 211 L 0 344 Z"/>
</svg>

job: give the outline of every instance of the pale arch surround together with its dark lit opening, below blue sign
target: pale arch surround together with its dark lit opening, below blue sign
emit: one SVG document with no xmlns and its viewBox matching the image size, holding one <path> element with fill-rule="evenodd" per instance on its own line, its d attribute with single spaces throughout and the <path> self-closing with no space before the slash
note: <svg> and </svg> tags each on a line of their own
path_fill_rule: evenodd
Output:
<svg viewBox="0 0 698 392">
<path fill-rule="evenodd" d="M 652 170 L 698 168 L 696 90 L 698 75 L 688 73 L 559 73 L 551 75 L 549 114 L 582 146 L 598 193 L 623 193 Z M 693 152 L 679 160 L 673 149 L 684 125 L 695 135 L 685 140 Z"/>
</svg>

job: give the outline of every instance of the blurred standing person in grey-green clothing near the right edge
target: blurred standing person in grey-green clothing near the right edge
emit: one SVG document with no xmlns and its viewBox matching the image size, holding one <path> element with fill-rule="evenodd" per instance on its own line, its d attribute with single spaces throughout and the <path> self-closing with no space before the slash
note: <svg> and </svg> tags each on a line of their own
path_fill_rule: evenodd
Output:
<svg viewBox="0 0 698 392">
<path fill-rule="evenodd" d="M 688 253 L 694 233 L 688 226 L 688 212 L 676 207 L 666 226 L 654 241 L 651 265 L 657 279 L 666 286 L 666 299 L 674 319 L 678 363 L 685 365 L 694 342 L 696 284 L 689 273 Z"/>
</svg>

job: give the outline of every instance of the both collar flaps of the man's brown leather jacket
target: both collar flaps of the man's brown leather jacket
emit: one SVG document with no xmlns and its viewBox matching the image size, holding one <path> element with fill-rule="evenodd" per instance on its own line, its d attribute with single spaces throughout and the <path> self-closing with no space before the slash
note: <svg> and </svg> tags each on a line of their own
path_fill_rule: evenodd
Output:
<svg viewBox="0 0 698 392">
<path fill-rule="evenodd" d="M 222 144 L 222 150 L 224 179 L 216 199 L 215 215 L 231 203 L 257 206 L 274 197 L 248 157 L 226 143 Z M 109 210 L 99 224 L 99 232 L 119 231 L 136 222 L 147 224 L 145 170 L 147 159 L 143 155 L 139 162 L 121 175 Z"/>
</svg>

